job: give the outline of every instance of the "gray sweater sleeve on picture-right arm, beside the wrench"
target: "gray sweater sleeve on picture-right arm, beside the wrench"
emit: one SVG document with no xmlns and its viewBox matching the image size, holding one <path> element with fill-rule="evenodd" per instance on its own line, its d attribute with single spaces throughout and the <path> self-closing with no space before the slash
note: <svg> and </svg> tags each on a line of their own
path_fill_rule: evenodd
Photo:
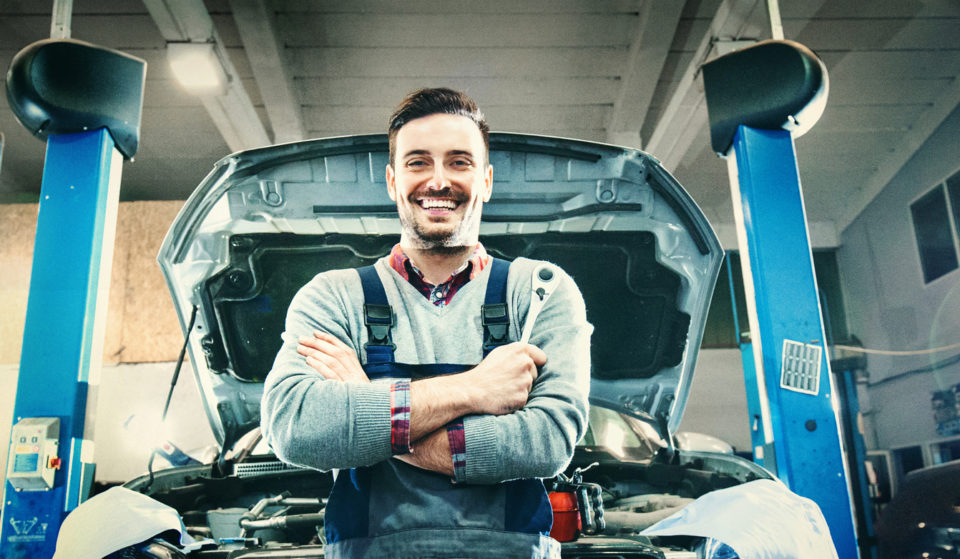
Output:
<svg viewBox="0 0 960 559">
<path fill-rule="evenodd" d="M 547 478 L 570 463 L 587 427 L 593 326 L 587 322 L 583 297 L 573 279 L 565 273 L 560 278 L 536 318 L 530 338 L 531 344 L 547 354 L 547 362 L 540 368 L 526 406 L 507 415 L 464 418 L 466 467 L 456 481 Z M 522 279 L 519 284 L 516 315 L 525 319 L 530 282 Z M 516 328 L 522 326 L 519 323 Z"/>
</svg>

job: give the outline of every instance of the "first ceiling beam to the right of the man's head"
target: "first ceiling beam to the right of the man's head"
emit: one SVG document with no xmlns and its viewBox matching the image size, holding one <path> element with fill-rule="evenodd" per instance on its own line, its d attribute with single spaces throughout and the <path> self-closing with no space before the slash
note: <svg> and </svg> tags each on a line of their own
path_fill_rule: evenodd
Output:
<svg viewBox="0 0 960 559">
<path fill-rule="evenodd" d="M 640 148 L 643 119 L 670 54 L 670 44 L 683 12 L 683 2 L 646 0 L 627 64 L 621 73 L 620 91 L 607 124 L 607 142 Z"/>
</svg>

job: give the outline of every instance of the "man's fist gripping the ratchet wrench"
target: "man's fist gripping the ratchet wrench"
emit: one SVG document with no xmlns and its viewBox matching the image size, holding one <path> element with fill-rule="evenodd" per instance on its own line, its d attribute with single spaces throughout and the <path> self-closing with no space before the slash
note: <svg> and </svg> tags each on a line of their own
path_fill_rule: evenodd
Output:
<svg viewBox="0 0 960 559">
<path fill-rule="evenodd" d="M 546 362 L 547 354 L 530 344 L 516 342 L 491 351 L 464 373 L 475 394 L 474 413 L 504 415 L 522 408 L 537 380 L 537 367 Z"/>
</svg>

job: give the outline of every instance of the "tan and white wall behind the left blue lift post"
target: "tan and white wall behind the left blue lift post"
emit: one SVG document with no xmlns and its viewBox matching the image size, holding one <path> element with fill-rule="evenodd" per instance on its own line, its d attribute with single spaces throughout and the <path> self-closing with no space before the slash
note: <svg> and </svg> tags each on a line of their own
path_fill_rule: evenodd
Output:
<svg viewBox="0 0 960 559">
<path fill-rule="evenodd" d="M 125 446 L 120 426 L 133 413 L 159 419 L 173 372 L 169 362 L 176 359 L 182 344 L 180 326 L 156 262 L 163 236 L 182 205 L 120 204 L 107 305 L 106 366 L 101 388 L 91 387 L 88 403 L 90 419 L 99 418 L 91 424 L 99 446 L 97 478 L 101 480 L 127 479 L 145 467 L 146 458 L 137 454 L 143 451 Z M 36 204 L 0 205 L 0 440 L 4 441 L 0 445 L 0 480 L 6 474 L 7 435 L 13 420 L 37 211 Z M 119 366 L 125 363 L 143 365 Z M 177 389 L 170 414 L 191 418 L 192 423 L 186 425 L 192 427 L 183 429 L 180 438 L 174 439 L 183 441 L 185 449 L 213 442 L 192 383 L 191 374 L 181 376 L 184 386 Z M 178 403 L 182 398 L 186 400 Z M 179 411 L 182 406 L 196 411 Z M 179 421 L 177 417 L 175 424 Z"/>
</svg>

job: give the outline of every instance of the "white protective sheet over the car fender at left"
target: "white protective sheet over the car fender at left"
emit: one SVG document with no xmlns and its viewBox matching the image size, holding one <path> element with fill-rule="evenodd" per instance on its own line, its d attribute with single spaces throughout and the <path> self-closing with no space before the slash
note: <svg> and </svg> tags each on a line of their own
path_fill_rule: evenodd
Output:
<svg viewBox="0 0 960 559">
<path fill-rule="evenodd" d="M 53 558 L 101 559 L 167 530 L 180 534 L 181 547 L 195 543 L 176 510 L 136 491 L 112 487 L 67 515 Z"/>
</svg>

